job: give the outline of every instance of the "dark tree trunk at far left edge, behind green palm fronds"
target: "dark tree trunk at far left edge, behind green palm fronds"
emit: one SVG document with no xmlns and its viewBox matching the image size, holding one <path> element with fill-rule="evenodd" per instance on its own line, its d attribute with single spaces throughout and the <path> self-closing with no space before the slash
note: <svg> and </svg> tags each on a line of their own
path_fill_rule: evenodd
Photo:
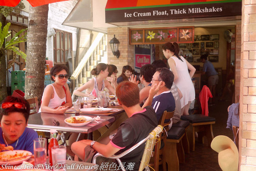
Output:
<svg viewBox="0 0 256 171">
<path fill-rule="evenodd" d="M 2 23 L 2 29 L 6 25 L 6 17 L 0 14 L 0 22 Z M 5 45 L 5 44 L 4 44 Z M 4 46 L 3 45 L 3 46 Z M 6 53 L 0 51 L 0 102 L 7 96 L 6 89 Z"/>
</svg>

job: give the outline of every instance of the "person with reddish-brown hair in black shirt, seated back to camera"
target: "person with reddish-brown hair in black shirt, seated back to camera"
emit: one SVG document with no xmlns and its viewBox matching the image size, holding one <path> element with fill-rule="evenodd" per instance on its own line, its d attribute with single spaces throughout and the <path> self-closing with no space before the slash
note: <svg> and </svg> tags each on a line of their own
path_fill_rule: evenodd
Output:
<svg viewBox="0 0 256 171">
<path fill-rule="evenodd" d="M 116 88 L 116 96 L 129 118 L 120 124 L 117 133 L 107 144 L 92 140 L 74 142 L 71 149 L 81 160 L 90 162 L 85 154 L 90 154 L 94 149 L 105 157 L 120 154 L 147 137 L 157 126 L 154 109 L 151 106 L 146 106 L 144 109 L 140 107 L 137 84 L 130 81 L 119 83 Z M 135 163 L 133 170 L 138 170 L 144 147 L 145 144 L 140 145 L 134 151 L 122 157 L 121 161 L 126 164 Z"/>
</svg>

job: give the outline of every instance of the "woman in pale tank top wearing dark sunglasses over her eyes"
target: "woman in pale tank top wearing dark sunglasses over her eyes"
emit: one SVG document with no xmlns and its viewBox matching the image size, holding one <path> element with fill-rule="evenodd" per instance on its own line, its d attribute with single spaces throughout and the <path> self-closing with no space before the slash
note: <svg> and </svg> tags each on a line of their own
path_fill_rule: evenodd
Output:
<svg viewBox="0 0 256 171">
<path fill-rule="evenodd" d="M 54 83 L 45 88 L 39 112 L 63 114 L 66 109 L 72 107 L 67 73 L 68 68 L 64 65 L 55 65 L 51 69 L 51 79 Z"/>
</svg>

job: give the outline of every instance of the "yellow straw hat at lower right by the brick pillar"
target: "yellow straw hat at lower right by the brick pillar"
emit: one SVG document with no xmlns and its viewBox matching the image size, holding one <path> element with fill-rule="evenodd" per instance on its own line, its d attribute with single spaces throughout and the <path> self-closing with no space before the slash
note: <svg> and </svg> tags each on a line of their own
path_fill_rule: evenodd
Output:
<svg viewBox="0 0 256 171">
<path fill-rule="evenodd" d="M 238 148 L 230 138 L 219 135 L 211 141 L 210 146 L 214 151 L 219 153 L 218 161 L 223 171 L 238 170 Z"/>
</svg>

